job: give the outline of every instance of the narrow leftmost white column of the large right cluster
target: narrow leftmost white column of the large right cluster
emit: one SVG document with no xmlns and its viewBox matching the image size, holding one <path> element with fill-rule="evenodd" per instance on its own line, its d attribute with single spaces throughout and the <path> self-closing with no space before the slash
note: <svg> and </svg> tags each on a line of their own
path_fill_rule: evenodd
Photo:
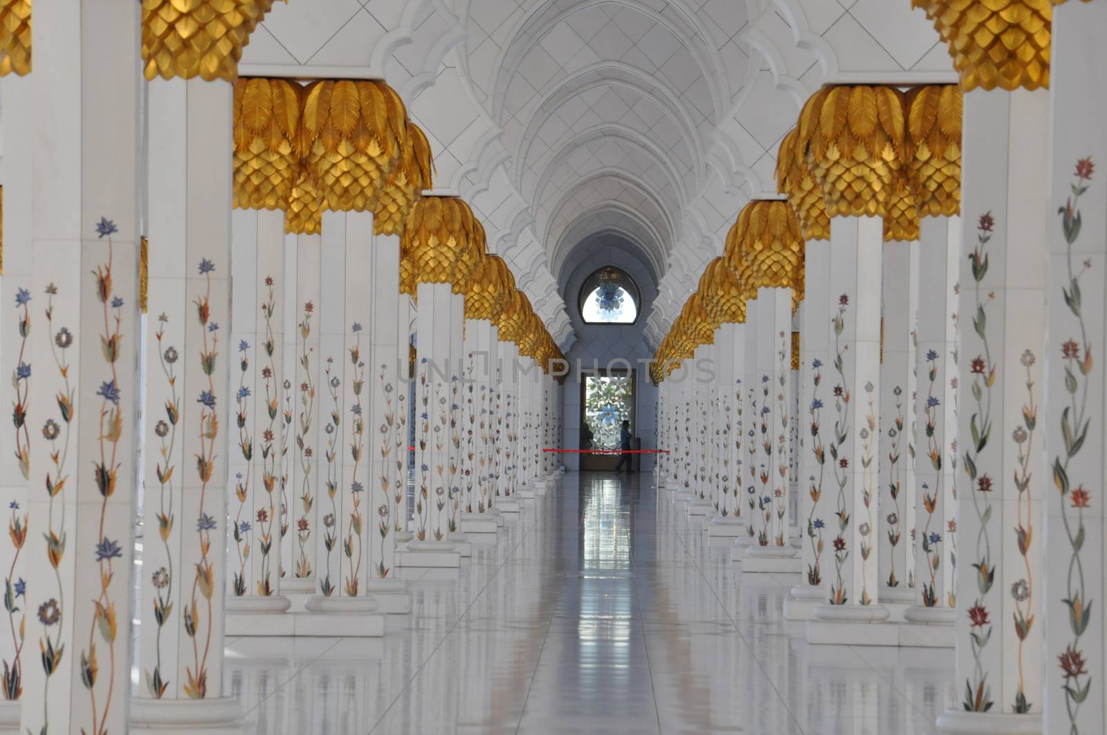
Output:
<svg viewBox="0 0 1107 735">
<path fill-rule="evenodd" d="M 799 415 L 804 432 L 803 453 L 799 457 L 800 518 L 803 537 L 800 555 L 804 561 L 804 583 L 792 589 L 795 600 L 821 600 L 829 538 L 826 498 L 830 495 L 829 479 L 832 470 L 827 466 L 827 441 L 834 431 L 828 423 L 830 404 L 828 373 L 832 370 L 828 359 L 830 335 L 831 293 L 830 242 L 809 239 L 804 246 L 805 278 L 804 302 L 799 308 Z"/>
</svg>

